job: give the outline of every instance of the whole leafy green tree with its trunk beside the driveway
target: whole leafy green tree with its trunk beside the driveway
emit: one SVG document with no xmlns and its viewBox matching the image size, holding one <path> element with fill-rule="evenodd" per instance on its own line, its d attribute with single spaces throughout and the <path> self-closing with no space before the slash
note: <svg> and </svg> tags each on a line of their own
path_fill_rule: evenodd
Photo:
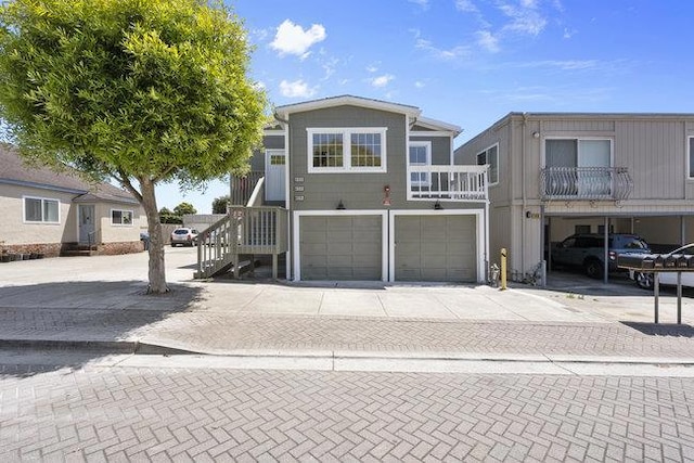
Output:
<svg viewBox="0 0 694 463">
<path fill-rule="evenodd" d="M 30 159 L 119 181 L 142 204 L 149 291 L 168 291 L 155 187 L 247 170 L 266 119 L 220 0 L 9 0 L 0 117 Z"/>
</svg>

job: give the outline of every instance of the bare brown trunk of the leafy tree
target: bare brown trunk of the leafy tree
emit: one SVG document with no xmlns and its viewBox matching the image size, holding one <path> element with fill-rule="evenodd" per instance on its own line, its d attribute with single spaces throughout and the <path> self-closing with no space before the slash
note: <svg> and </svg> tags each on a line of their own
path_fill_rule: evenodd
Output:
<svg viewBox="0 0 694 463">
<path fill-rule="evenodd" d="M 150 232 L 150 286 L 149 294 L 168 293 L 166 285 L 166 267 L 164 265 L 164 240 L 162 237 L 162 222 L 156 207 L 154 183 L 150 179 L 139 179 L 142 192 L 142 206 L 147 216 L 147 230 Z"/>
</svg>

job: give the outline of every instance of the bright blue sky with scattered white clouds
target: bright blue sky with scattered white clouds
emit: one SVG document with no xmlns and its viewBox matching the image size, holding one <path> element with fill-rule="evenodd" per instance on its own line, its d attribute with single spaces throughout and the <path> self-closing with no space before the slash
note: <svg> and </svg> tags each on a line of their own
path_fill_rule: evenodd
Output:
<svg viewBox="0 0 694 463">
<path fill-rule="evenodd" d="M 689 0 L 227 0 L 273 105 L 339 94 L 463 128 L 509 112 L 694 112 Z M 228 183 L 158 190 L 210 213 Z"/>
</svg>

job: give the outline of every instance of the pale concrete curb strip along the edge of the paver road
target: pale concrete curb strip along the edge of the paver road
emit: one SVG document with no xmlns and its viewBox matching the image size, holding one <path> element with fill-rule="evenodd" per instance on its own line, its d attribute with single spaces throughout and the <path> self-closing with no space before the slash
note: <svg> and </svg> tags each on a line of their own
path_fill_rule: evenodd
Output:
<svg viewBox="0 0 694 463">
<path fill-rule="evenodd" d="M 111 359 L 120 359 L 115 363 L 111 360 L 97 361 L 99 364 L 114 366 L 694 376 L 694 357 L 330 349 L 194 351 L 182 346 L 164 346 L 140 340 L 94 339 L 0 339 L 0 350 L 3 349 L 88 350 L 108 356 Z"/>
</svg>

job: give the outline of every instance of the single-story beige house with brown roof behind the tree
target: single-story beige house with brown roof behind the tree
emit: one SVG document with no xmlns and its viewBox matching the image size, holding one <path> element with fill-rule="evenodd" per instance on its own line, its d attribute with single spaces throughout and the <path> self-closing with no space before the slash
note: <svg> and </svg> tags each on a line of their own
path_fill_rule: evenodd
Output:
<svg viewBox="0 0 694 463">
<path fill-rule="evenodd" d="M 98 254 L 143 249 L 144 210 L 125 190 L 29 166 L 0 146 L 0 249 L 55 257 L 87 246 Z"/>
</svg>

